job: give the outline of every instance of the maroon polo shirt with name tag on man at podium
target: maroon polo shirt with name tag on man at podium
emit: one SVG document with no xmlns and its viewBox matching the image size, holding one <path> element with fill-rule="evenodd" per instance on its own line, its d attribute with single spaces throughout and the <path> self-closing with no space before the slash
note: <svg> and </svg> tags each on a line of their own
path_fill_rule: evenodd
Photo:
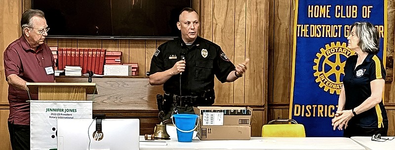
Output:
<svg viewBox="0 0 395 150">
<path fill-rule="evenodd" d="M 18 75 L 27 82 L 53 82 L 54 74 L 47 75 L 45 68 L 52 67 L 54 59 L 48 45 L 41 44 L 37 52 L 30 48 L 24 36 L 13 41 L 4 51 L 5 76 Z M 38 94 L 30 94 L 38 100 Z M 30 103 L 27 91 L 8 86 L 9 117 L 13 124 L 30 124 Z"/>
</svg>

